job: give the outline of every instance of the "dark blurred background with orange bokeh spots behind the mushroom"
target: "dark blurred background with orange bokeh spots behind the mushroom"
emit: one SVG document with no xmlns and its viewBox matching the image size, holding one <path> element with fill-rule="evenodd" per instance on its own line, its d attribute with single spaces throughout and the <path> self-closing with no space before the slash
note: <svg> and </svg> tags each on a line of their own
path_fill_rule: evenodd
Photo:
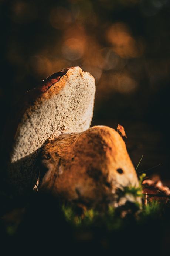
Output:
<svg viewBox="0 0 170 256">
<path fill-rule="evenodd" d="M 80 66 L 96 81 L 92 125 L 123 125 L 138 172 L 170 186 L 170 1 L 0 0 L 2 132 L 39 82 Z M 157 176 L 159 175 L 159 176 Z"/>
</svg>

